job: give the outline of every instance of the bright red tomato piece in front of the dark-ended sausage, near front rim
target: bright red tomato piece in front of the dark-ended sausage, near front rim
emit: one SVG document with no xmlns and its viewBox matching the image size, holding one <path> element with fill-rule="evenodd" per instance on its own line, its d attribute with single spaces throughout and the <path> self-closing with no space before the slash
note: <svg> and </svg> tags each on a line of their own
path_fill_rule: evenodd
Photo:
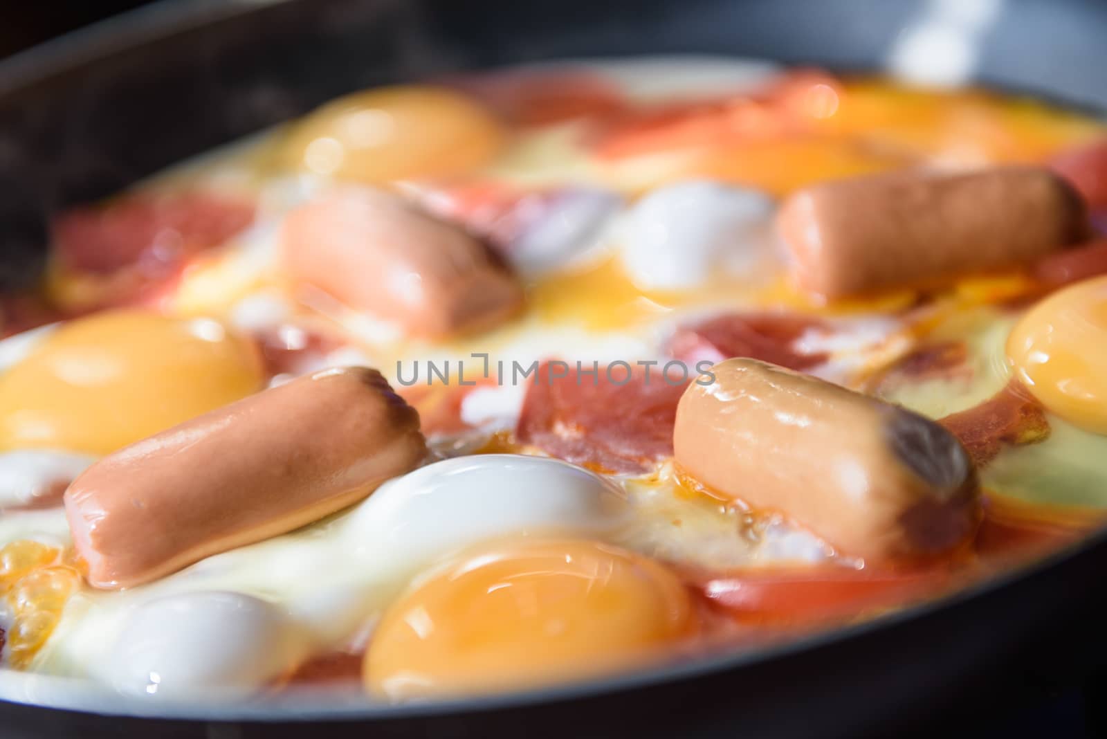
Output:
<svg viewBox="0 0 1107 739">
<path fill-rule="evenodd" d="M 804 625 L 920 601 L 942 592 L 951 580 L 945 568 L 899 572 L 818 565 L 732 571 L 696 585 L 739 621 Z"/>
</svg>

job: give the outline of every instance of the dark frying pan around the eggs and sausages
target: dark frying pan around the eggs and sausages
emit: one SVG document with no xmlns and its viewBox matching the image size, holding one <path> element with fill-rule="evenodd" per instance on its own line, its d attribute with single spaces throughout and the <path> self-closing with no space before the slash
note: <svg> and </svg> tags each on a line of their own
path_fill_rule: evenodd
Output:
<svg viewBox="0 0 1107 739">
<path fill-rule="evenodd" d="M 943 15 L 944 14 L 944 15 Z M 1107 106 L 1107 4 L 1075 0 L 192 0 L 0 64 L 0 287 L 33 283 L 45 223 L 337 95 L 556 58 L 710 53 L 882 69 L 934 18 L 972 27 L 965 72 Z M 912 37 L 912 34 L 915 34 Z M 938 49 L 934 63 L 946 63 Z M 866 736 L 994 727 L 1027 686 L 1107 665 L 1107 533 L 910 611 L 784 646 L 478 700 L 300 696 L 151 704 L 0 679 L 0 736 Z M 19 679 L 13 679 L 19 678 Z"/>
</svg>

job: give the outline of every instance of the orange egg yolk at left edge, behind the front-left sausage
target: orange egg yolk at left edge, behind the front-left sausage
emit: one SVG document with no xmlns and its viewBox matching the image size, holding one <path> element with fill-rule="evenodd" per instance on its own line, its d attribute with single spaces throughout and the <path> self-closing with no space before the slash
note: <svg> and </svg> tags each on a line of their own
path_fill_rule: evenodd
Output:
<svg viewBox="0 0 1107 739">
<path fill-rule="evenodd" d="M 106 454 L 262 386 L 254 342 L 206 319 L 79 319 L 0 375 L 0 449 Z"/>
</svg>

